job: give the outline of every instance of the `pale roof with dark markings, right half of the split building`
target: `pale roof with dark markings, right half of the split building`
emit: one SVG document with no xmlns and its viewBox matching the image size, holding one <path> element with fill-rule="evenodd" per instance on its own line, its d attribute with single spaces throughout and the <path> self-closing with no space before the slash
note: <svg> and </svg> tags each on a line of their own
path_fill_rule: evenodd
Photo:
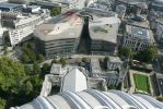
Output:
<svg viewBox="0 0 163 109">
<path fill-rule="evenodd" d="M 104 40 L 117 44 L 117 34 L 120 20 L 116 16 L 96 16 L 90 21 L 90 37 L 94 40 Z"/>
</svg>

